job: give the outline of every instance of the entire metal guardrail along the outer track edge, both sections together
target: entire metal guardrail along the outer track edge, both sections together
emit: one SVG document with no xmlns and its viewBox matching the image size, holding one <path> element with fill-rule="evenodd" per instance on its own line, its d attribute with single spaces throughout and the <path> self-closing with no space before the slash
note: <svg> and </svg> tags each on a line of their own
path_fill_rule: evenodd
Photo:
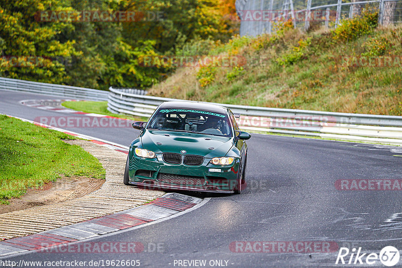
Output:
<svg viewBox="0 0 402 268">
<path fill-rule="evenodd" d="M 149 117 L 164 101 L 178 100 L 144 95 L 138 89 L 110 92 L 82 87 L 38 83 L 0 77 L 0 89 L 46 94 L 85 100 L 108 100 L 114 113 Z M 214 103 L 219 104 L 219 103 Z M 402 145 L 402 116 L 279 109 L 232 104 L 219 104 L 242 116 L 242 129 L 290 135 L 317 136 L 356 142 Z"/>
</svg>

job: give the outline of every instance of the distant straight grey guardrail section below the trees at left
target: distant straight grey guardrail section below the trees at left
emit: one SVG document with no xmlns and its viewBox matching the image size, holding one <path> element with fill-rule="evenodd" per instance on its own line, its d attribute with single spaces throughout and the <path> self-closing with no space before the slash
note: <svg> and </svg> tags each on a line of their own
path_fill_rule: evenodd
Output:
<svg viewBox="0 0 402 268">
<path fill-rule="evenodd" d="M 109 92 L 104 90 L 39 83 L 5 77 L 0 77 L 0 89 L 98 101 L 108 100 L 109 95 Z"/>
</svg>

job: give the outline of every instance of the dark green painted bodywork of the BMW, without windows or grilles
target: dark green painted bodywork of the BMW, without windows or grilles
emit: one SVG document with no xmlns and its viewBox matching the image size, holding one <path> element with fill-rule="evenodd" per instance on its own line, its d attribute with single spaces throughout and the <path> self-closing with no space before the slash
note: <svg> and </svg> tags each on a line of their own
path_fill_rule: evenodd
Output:
<svg viewBox="0 0 402 268">
<path fill-rule="evenodd" d="M 229 109 L 227 109 L 227 112 L 228 115 L 231 113 Z M 232 132 L 235 133 L 235 131 Z M 239 136 L 242 134 L 248 135 L 246 132 L 241 132 Z M 249 137 L 246 139 L 249 139 Z M 156 156 L 152 159 L 138 157 L 135 154 L 135 148 L 153 151 Z M 183 150 L 186 152 L 183 153 Z M 205 159 L 199 166 L 188 166 L 183 162 L 175 165 L 164 162 L 162 153 L 180 154 L 182 157 L 196 155 Z M 148 189 L 183 189 L 233 193 L 242 173 L 246 153 L 247 145 L 245 141 L 237 137 L 142 128 L 139 137 L 130 145 L 128 156 L 129 184 L 143 186 Z M 234 157 L 235 160 L 231 165 L 214 165 L 210 161 L 215 157 Z M 210 169 L 215 170 L 210 171 Z M 139 170 L 151 172 L 143 176 L 144 174 L 136 174 Z M 220 170 L 220 172 L 216 170 Z M 185 177 L 189 178 L 189 180 L 192 177 L 204 178 L 205 181 L 203 185 L 186 184 L 186 180 L 184 180 L 184 183 L 167 185 L 158 180 L 160 173 L 189 176 Z"/>
</svg>

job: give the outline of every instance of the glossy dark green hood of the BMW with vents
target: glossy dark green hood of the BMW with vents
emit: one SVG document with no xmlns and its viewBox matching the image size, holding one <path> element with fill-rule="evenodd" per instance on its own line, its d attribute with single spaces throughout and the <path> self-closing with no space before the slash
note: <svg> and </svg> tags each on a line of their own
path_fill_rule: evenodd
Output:
<svg viewBox="0 0 402 268">
<path fill-rule="evenodd" d="M 233 146 L 233 138 L 198 133 L 145 130 L 141 137 L 144 149 L 155 153 L 198 155 L 206 158 L 223 157 Z"/>
</svg>

